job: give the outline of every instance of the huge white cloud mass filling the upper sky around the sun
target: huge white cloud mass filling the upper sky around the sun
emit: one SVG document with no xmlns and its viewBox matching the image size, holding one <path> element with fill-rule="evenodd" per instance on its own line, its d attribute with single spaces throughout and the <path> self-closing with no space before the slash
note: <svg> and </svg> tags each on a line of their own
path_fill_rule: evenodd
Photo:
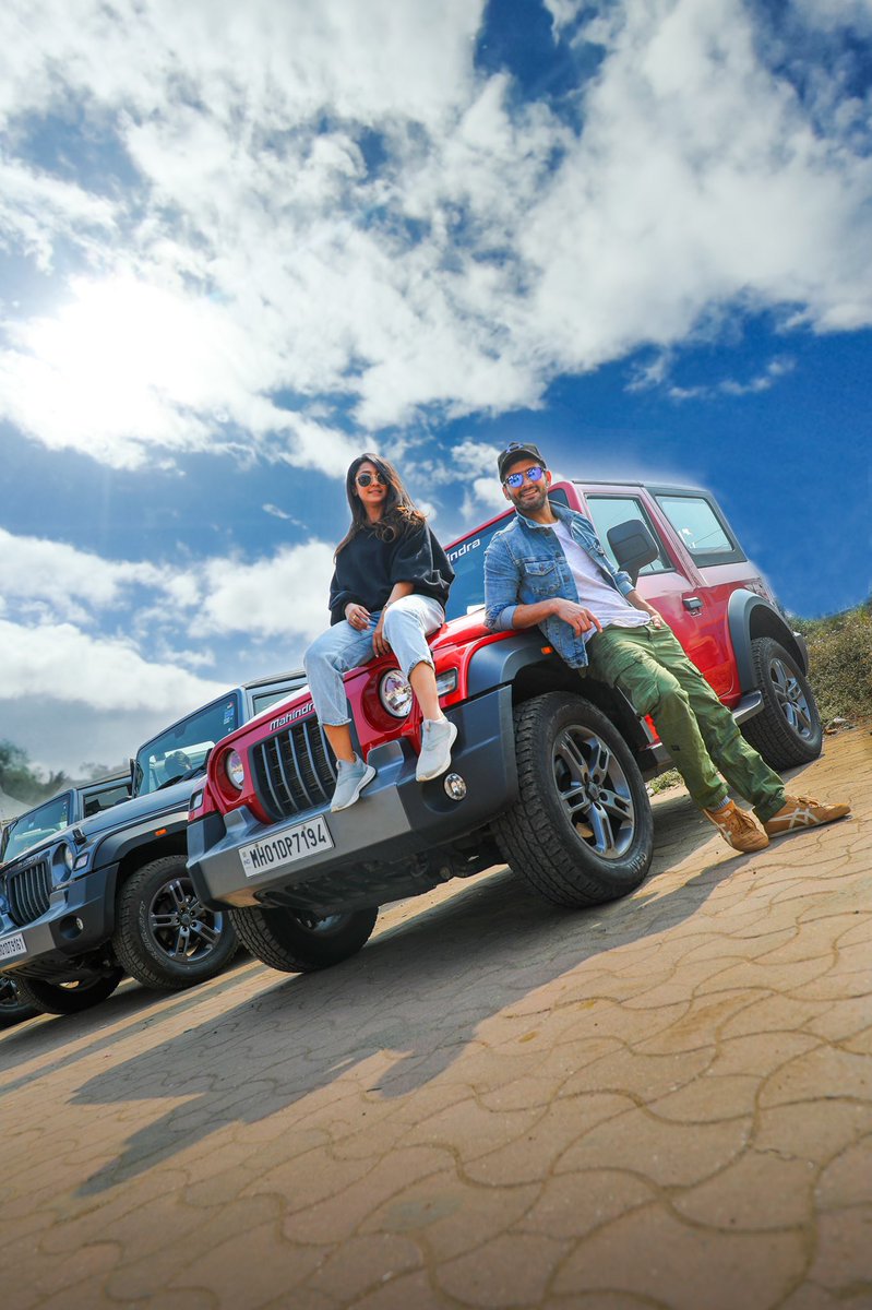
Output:
<svg viewBox="0 0 872 1310">
<path fill-rule="evenodd" d="M 5 417 L 119 466 L 254 451 L 339 476 L 347 411 L 378 430 L 533 406 L 729 307 L 872 322 L 872 159 L 843 79 L 804 103 L 741 0 L 587 26 L 547 8 L 555 41 L 602 47 L 580 128 L 477 73 L 482 0 L 10 0 L 0 232 L 43 267 L 79 242 L 84 271 L 65 308 L 4 325 Z M 37 168 L 47 113 L 103 144 L 101 194 Z"/>
</svg>

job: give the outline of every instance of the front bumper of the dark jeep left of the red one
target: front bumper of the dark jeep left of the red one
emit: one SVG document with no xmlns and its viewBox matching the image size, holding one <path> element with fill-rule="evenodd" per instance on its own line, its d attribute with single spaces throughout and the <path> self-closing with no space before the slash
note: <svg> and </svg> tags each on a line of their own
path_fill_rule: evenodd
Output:
<svg viewBox="0 0 872 1310">
<path fill-rule="evenodd" d="M 55 887 L 46 913 L 24 927 L 0 913 L 0 969 L 58 981 L 73 977 L 75 958 L 103 946 L 113 934 L 109 872 L 92 870 Z"/>
</svg>

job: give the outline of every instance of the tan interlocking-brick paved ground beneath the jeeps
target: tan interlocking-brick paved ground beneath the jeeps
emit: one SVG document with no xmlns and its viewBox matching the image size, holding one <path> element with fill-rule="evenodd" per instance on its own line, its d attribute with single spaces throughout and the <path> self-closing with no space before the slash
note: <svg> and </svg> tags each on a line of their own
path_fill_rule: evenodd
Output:
<svg viewBox="0 0 872 1310">
<path fill-rule="evenodd" d="M 5 1310 L 872 1305 L 872 736 L 733 855 L 682 795 L 594 913 L 507 870 L 340 968 L 0 1039 Z"/>
</svg>

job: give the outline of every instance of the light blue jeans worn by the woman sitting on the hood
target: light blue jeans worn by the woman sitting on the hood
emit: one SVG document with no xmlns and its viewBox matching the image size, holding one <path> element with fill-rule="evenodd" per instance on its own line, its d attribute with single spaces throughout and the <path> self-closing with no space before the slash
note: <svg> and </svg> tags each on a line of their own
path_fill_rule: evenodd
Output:
<svg viewBox="0 0 872 1310">
<path fill-rule="evenodd" d="M 319 723 L 340 727 L 351 722 L 342 675 L 373 658 L 372 634 L 380 616 L 381 610 L 374 610 L 364 629 L 352 627 L 343 618 L 340 624 L 334 624 L 321 637 L 316 637 L 302 656 Z M 412 593 L 388 607 L 384 634 L 406 677 L 422 662 L 433 668 L 427 637 L 444 622 L 445 610 L 431 596 Z"/>
</svg>

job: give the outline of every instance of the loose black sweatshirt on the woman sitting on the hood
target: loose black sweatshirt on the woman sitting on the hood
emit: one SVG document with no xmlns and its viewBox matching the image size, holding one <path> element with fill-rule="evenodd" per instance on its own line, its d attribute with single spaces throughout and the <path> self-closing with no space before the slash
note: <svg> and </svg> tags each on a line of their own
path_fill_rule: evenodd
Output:
<svg viewBox="0 0 872 1310">
<path fill-rule="evenodd" d="M 427 524 L 382 541 L 372 528 L 361 528 L 339 552 L 330 582 L 330 624 L 342 622 L 346 605 L 355 601 L 371 613 L 382 609 L 394 583 L 410 582 L 412 592 L 448 600 L 454 570 Z"/>
</svg>

